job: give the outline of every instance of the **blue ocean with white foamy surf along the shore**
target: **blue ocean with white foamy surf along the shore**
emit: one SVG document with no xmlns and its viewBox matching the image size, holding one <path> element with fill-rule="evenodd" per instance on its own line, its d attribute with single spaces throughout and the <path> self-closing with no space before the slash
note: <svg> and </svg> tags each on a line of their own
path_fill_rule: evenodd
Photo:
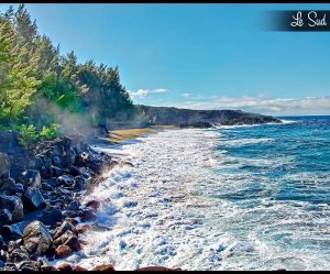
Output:
<svg viewBox="0 0 330 274">
<path fill-rule="evenodd" d="M 330 268 L 330 117 L 161 131 L 108 149 L 81 266 Z"/>
</svg>

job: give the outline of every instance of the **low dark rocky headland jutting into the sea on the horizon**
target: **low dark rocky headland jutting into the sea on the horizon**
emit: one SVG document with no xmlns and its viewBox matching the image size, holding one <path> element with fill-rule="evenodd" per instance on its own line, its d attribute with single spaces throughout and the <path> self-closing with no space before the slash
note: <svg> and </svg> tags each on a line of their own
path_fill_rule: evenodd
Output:
<svg viewBox="0 0 330 274">
<path fill-rule="evenodd" d="M 182 128 L 210 128 L 212 124 L 280 123 L 274 117 L 249 113 L 241 110 L 193 110 L 142 105 L 139 108 L 147 117 L 156 117 L 155 124 L 157 125 L 174 124 Z"/>
</svg>

